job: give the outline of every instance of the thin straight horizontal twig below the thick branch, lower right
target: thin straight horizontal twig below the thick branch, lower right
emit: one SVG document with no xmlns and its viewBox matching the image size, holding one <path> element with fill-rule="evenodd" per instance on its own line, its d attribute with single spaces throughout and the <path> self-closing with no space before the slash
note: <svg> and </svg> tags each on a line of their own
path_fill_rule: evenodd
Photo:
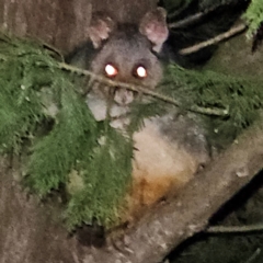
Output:
<svg viewBox="0 0 263 263">
<path fill-rule="evenodd" d="M 259 232 L 263 231 L 263 224 L 255 224 L 250 226 L 237 226 L 237 227 L 225 227 L 215 226 L 209 227 L 207 233 L 245 233 L 245 232 Z"/>
</svg>

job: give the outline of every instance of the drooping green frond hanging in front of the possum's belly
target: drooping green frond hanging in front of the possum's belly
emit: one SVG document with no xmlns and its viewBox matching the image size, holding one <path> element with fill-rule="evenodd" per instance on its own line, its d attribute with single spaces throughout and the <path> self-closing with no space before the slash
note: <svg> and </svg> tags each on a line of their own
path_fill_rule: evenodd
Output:
<svg viewBox="0 0 263 263">
<path fill-rule="evenodd" d="M 84 186 L 69 202 L 66 215 L 70 218 L 70 229 L 81 222 L 92 224 L 93 219 L 100 225 L 113 226 L 125 207 L 133 144 L 110 126 L 101 140 L 102 145 L 78 163 Z M 82 152 L 89 152 L 89 148 Z"/>
</svg>

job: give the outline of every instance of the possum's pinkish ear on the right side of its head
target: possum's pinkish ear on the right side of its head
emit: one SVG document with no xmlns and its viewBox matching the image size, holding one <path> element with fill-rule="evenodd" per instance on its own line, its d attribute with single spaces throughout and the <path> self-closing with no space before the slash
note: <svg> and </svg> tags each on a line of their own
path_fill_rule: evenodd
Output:
<svg viewBox="0 0 263 263">
<path fill-rule="evenodd" d="M 162 8 L 157 8 L 146 13 L 140 21 L 139 31 L 152 43 L 152 49 L 159 53 L 169 35 L 167 11 Z"/>
</svg>

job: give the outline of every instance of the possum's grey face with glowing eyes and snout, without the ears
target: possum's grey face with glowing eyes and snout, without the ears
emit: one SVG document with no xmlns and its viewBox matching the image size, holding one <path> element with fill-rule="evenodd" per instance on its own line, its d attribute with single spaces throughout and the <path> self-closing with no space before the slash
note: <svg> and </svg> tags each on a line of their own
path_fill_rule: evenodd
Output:
<svg viewBox="0 0 263 263">
<path fill-rule="evenodd" d="M 162 77 L 162 68 L 148 38 L 133 28 L 117 31 L 101 48 L 91 64 L 94 73 L 119 82 L 153 89 Z M 136 93 L 119 87 L 104 88 L 119 105 L 133 102 Z"/>
</svg>

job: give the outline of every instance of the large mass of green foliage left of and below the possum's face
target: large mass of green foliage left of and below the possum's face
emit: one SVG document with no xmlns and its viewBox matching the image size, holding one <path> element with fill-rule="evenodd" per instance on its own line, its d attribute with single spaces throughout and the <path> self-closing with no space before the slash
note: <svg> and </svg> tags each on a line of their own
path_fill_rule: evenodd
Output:
<svg viewBox="0 0 263 263">
<path fill-rule="evenodd" d="M 130 138 L 95 122 L 71 76 L 44 48 L 0 36 L 0 57 L 1 152 L 23 156 L 25 185 L 41 197 L 77 172 L 81 188 L 65 213 L 70 229 L 93 219 L 116 224 L 132 174 Z"/>
</svg>

